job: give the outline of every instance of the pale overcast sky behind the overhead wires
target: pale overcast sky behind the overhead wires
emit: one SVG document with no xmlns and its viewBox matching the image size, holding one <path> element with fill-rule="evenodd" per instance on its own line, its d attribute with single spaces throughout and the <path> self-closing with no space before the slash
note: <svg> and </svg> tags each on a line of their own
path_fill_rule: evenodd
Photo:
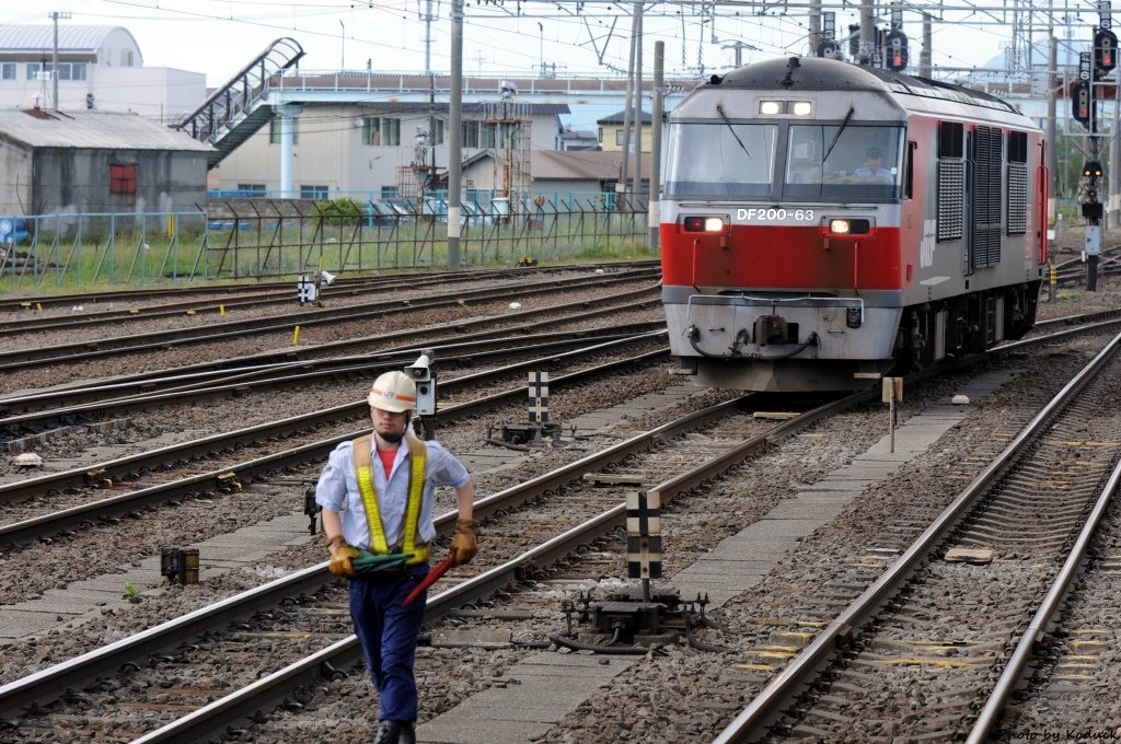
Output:
<svg viewBox="0 0 1121 744">
<path fill-rule="evenodd" d="M 1058 0 L 1056 6 L 1092 7 L 1086 0 Z M 804 4 L 804 3 L 803 3 Z M 991 4 L 998 4 L 993 2 Z M 451 3 L 447 0 L 3 0 L 2 24 L 49 25 L 52 11 L 71 12 L 59 24 L 123 26 L 136 37 L 146 66 L 201 72 L 219 85 L 262 52 L 274 39 L 291 37 L 304 48 L 305 71 L 425 69 L 426 27 L 430 27 L 430 68 L 451 67 Z M 846 31 L 859 20 L 856 2 L 837 11 L 836 26 Z M 424 20 L 428 8 L 434 20 Z M 632 3 L 573 0 L 546 3 L 526 0 L 466 0 L 463 71 L 465 74 L 529 74 L 544 63 L 558 75 L 600 75 L 626 71 Z M 643 65 L 652 66 L 654 43 L 665 41 L 667 75 L 700 77 L 733 66 L 733 45 L 744 63 L 777 55 L 804 54 L 806 19 L 759 17 L 722 8 L 713 24 L 687 6 L 648 4 L 643 27 Z M 963 0 L 962 7 L 965 7 Z M 520 9 L 520 16 L 518 15 Z M 974 15 L 973 18 L 983 18 Z M 958 13 L 955 22 L 934 27 L 937 66 L 983 66 L 1002 54 L 1011 39 L 1008 26 L 972 26 Z M 1082 15 L 1074 26 L 1090 38 L 1096 16 Z M 947 19 L 948 20 L 948 19 Z M 991 20 L 991 18 L 990 18 Z M 886 22 L 884 22 L 886 25 Z M 918 62 L 921 25 L 905 13 L 912 65 Z M 1084 32 L 1083 32 L 1084 31 Z"/>
</svg>

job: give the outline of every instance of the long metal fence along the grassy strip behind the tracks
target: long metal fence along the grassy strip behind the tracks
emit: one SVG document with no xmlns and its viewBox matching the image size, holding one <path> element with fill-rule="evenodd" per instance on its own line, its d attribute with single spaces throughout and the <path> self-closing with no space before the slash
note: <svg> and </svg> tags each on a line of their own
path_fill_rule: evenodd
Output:
<svg viewBox="0 0 1121 744">
<path fill-rule="evenodd" d="M 380 202 L 212 199 L 206 212 L 0 220 L 0 292 L 447 266 L 439 197 Z M 645 255 L 647 204 L 618 194 L 464 203 L 461 266 Z"/>
</svg>

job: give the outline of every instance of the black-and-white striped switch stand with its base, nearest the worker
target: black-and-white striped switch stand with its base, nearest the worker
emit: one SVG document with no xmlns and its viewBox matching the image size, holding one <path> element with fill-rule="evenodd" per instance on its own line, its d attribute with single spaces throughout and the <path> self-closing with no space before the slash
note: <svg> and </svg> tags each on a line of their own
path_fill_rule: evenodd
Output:
<svg viewBox="0 0 1121 744">
<path fill-rule="evenodd" d="M 627 576 L 641 579 L 641 586 L 613 592 L 597 601 L 591 592 L 578 602 L 562 603 L 567 630 L 549 636 L 557 645 L 573 650 L 612 654 L 645 654 L 658 645 L 684 640 L 702 651 L 723 651 L 721 647 L 700 643 L 693 629 L 708 625 L 704 608 L 707 595 L 683 602 L 674 588 L 650 590 L 650 579 L 661 578 L 661 494 L 657 491 L 627 495 Z M 589 623 L 589 630 L 575 633 L 573 620 Z"/>
</svg>

